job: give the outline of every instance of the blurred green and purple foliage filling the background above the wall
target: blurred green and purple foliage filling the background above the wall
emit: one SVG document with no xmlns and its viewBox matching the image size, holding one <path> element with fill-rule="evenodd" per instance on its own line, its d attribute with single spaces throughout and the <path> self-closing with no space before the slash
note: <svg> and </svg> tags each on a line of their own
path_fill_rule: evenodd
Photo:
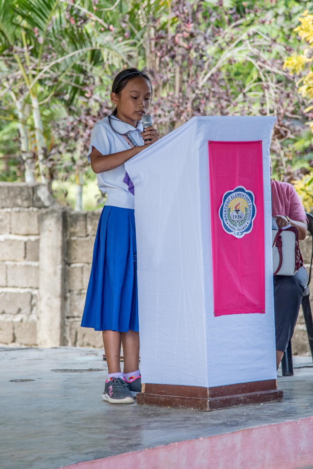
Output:
<svg viewBox="0 0 313 469">
<path fill-rule="evenodd" d="M 115 74 L 136 66 L 152 77 L 161 135 L 194 115 L 276 115 L 274 177 L 301 180 L 313 162 L 311 115 L 283 63 L 300 53 L 302 11 L 296 0 L 0 0 L 9 167 L 64 188 L 93 180 L 91 129 L 111 112 Z"/>
</svg>

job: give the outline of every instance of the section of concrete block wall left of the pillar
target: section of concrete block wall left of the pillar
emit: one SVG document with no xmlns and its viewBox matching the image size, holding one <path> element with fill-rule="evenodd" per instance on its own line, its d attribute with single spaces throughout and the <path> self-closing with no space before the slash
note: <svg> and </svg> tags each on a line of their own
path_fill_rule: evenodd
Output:
<svg viewBox="0 0 313 469">
<path fill-rule="evenodd" d="M 0 183 L 0 343 L 37 344 L 39 212 L 53 204 L 39 184 Z"/>
</svg>

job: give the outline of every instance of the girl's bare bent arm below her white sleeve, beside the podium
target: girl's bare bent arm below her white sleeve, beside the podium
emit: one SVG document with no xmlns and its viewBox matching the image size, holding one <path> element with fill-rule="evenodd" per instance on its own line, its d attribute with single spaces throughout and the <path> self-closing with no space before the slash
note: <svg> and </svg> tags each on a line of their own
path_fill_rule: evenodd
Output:
<svg viewBox="0 0 313 469">
<path fill-rule="evenodd" d="M 147 148 L 147 145 L 140 145 L 129 150 L 118 151 L 117 153 L 111 153 L 109 155 L 103 155 L 94 146 L 90 153 L 90 164 L 91 169 L 94 173 L 104 173 L 105 171 L 111 171 L 111 169 L 117 168 L 118 166 L 125 163 L 133 156 L 137 155 L 140 151 Z"/>
</svg>

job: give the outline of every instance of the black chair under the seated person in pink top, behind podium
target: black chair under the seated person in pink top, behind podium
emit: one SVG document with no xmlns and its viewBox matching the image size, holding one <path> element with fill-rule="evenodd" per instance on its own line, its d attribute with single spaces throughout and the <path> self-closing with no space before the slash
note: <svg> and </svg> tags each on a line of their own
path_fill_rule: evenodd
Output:
<svg viewBox="0 0 313 469">
<path fill-rule="evenodd" d="M 313 259 L 313 216 L 311 215 L 311 213 L 306 213 L 306 217 L 309 220 L 309 223 L 307 225 L 307 231 L 309 231 L 312 236 L 312 250 L 311 250 L 309 279 L 307 281 L 307 285 L 303 294 L 301 304 L 302 304 L 304 320 L 306 322 L 306 332 L 307 332 L 307 336 L 309 339 L 311 355 L 313 359 L 313 320 L 312 320 L 312 312 L 311 312 L 311 306 L 310 306 L 310 290 L 309 290 L 309 285 L 311 281 L 312 259 Z M 283 376 L 293 376 L 291 340 L 289 340 L 287 350 L 283 354 L 283 359 L 281 363 L 282 363 Z"/>
</svg>

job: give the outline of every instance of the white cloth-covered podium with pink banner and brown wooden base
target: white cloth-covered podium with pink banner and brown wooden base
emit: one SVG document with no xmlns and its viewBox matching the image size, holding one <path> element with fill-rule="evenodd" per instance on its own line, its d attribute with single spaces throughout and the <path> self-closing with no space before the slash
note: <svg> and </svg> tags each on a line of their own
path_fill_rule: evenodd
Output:
<svg viewBox="0 0 313 469">
<path fill-rule="evenodd" d="M 135 187 L 142 393 L 280 401 L 269 147 L 275 117 L 194 117 L 125 163 Z"/>
</svg>

